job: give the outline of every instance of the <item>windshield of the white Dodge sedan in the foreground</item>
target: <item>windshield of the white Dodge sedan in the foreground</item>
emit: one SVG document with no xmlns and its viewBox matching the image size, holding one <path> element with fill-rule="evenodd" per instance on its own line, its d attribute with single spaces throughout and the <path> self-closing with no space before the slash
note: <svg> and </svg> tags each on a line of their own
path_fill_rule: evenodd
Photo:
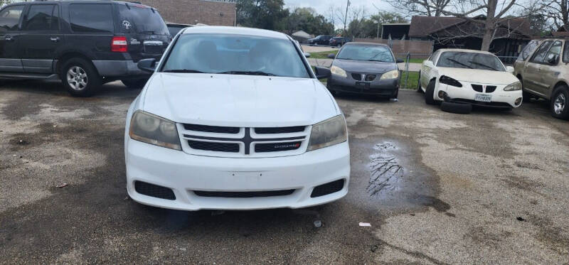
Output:
<svg viewBox="0 0 569 265">
<path fill-rule="evenodd" d="M 162 71 L 310 77 L 291 40 L 220 34 L 181 35 Z"/>
</svg>

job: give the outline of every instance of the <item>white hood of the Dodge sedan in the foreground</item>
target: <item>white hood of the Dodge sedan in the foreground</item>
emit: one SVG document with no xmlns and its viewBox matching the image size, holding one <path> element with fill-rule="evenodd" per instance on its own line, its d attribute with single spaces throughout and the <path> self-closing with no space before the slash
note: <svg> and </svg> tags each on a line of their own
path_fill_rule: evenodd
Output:
<svg viewBox="0 0 569 265">
<path fill-rule="evenodd" d="M 142 109 L 180 123 L 243 127 L 306 126 L 340 113 L 315 79 L 164 72 L 151 78 Z"/>
</svg>

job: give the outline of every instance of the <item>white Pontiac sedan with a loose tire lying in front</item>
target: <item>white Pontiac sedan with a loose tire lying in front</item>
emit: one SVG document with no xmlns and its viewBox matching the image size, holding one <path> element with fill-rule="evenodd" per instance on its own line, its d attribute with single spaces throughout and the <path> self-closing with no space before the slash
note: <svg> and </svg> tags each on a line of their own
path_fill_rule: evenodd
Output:
<svg viewBox="0 0 569 265">
<path fill-rule="evenodd" d="M 472 105 L 521 106 L 521 83 L 496 55 L 480 50 L 440 49 L 422 63 L 419 90 L 425 102 L 445 111 L 468 113 Z"/>
</svg>

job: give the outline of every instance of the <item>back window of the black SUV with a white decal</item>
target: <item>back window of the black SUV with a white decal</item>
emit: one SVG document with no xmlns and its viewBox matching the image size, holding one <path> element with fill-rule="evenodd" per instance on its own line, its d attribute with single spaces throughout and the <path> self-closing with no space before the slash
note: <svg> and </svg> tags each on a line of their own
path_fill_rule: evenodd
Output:
<svg viewBox="0 0 569 265">
<path fill-rule="evenodd" d="M 151 35 L 169 35 L 166 23 L 156 11 L 146 6 L 119 5 L 121 32 Z"/>
</svg>

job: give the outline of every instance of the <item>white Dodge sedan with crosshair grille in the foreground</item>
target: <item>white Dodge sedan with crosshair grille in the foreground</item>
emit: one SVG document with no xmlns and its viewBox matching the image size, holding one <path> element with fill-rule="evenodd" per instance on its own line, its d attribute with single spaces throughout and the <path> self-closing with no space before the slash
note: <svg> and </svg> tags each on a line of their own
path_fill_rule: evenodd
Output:
<svg viewBox="0 0 569 265">
<path fill-rule="evenodd" d="M 348 193 L 346 121 L 289 36 L 179 33 L 127 114 L 130 198 L 176 210 L 309 207 Z"/>
</svg>

